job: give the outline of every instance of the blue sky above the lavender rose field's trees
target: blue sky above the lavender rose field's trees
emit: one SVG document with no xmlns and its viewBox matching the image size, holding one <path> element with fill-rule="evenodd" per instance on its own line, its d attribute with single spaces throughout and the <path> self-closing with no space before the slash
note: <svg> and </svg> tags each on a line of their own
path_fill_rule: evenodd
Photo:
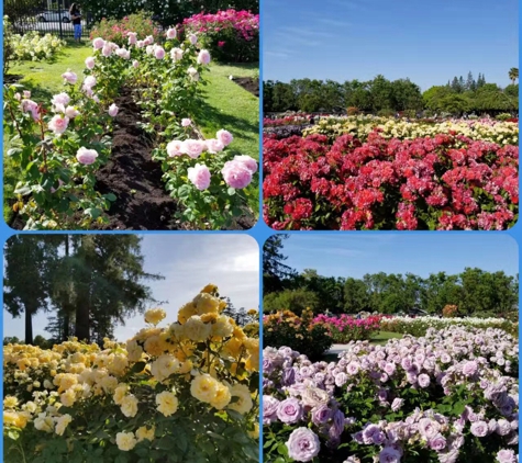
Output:
<svg viewBox="0 0 522 463">
<path fill-rule="evenodd" d="M 282 242 L 285 263 L 299 272 L 315 269 L 323 276 L 385 272 L 425 278 L 466 267 L 515 275 L 519 267 L 515 240 L 498 233 L 297 234 Z"/>
</svg>

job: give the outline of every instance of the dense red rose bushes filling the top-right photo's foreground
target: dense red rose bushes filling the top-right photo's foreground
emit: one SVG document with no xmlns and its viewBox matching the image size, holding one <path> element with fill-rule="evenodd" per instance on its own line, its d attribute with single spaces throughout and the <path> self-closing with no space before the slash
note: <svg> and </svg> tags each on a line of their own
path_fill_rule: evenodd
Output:
<svg viewBox="0 0 522 463">
<path fill-rule="evenodd" d="M 517 222 L 519 148 L 463 135 L 371 132 L 264 137 L 264 215 L 275 229 L 506 229 Z"/>
</svg>

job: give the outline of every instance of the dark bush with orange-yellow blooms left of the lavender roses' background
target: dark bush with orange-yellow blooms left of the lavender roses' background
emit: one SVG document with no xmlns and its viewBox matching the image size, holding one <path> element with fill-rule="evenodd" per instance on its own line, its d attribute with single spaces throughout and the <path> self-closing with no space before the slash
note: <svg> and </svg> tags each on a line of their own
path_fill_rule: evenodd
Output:
<svg viewBox="0 0 522 463">
<path fill-rule="evenodd" d="M 265 316 L 263 342 L 277 348 L 286 346 L 310 359 L 320 359 L 332 346 L 332 338 L 323 325 L 312 323 L 312 317 L 311 310 L 304 310 L 301 318 L 290 310 Z"/>
</svg>

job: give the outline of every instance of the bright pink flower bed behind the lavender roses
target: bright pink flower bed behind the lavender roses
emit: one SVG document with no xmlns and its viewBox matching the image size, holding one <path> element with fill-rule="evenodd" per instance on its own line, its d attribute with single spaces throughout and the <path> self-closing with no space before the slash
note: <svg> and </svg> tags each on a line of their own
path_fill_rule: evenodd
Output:
<svg viewBox="0 0 522 463">
<path fill-rule="evenodd" d="M 348 343 L 349 341 L 369 339 L 374 332 L 380 329 L 381 319 L 382 317 L 378 315 L 354 318 L 345 314 L 338 317 L 321 314 L 314 317 L 312 323 L 323 325 L 334 342 Z"/>
</svg>

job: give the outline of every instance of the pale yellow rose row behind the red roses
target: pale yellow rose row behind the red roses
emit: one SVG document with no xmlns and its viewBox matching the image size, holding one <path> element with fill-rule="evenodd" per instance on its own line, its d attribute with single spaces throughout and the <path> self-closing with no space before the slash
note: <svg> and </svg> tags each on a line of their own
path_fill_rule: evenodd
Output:
<svg viewBox="0 0 522 463">
<path fill-rule="evenodd" d="M 519 145 L 519 124 L 490 118 L 476 121 L 448 120 L 444 122 L 409 122 L 379 116 L 348 116 L 321 118 L 316 125 L 307 128 L 303 135 L 320 134 L 334 139 L 351 134 L 365 142 L 374 132 L 386 139 L 411 139 L 435 137 L 436 135 L 463 135 L 473 140 L 496 143 L 500 146 Z"/>
</svg>

